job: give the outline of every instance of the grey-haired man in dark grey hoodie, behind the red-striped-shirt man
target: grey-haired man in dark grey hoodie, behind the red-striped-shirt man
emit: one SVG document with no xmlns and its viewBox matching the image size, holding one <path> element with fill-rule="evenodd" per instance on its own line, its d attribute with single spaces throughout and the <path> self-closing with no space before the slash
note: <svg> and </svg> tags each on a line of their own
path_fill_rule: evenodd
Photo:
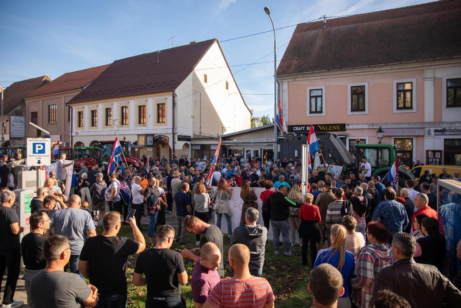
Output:
<svg viewBox="0 0 461 308">
<path fill-rule="evenodd" d="M 245 224 L 235 228 L 231 236 L 231 246 L 243 244 L 250 250 L 249 270 L 253 276 L 261 277 L 264 266 L 267 229 L 258 224 L 259 211 L 249 207 L 245 211 Z"/>
</svg>

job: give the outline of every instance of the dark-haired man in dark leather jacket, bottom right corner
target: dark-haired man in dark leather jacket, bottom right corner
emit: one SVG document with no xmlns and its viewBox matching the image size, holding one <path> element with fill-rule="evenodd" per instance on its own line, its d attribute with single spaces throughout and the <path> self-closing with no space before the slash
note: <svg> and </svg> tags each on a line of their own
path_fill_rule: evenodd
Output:
<svg viewBox="0 0 461 308">
<path fill-rule="evenodd" d="M 461 292 L 437 267 L 416 263 L 414 237 L 406 232 L 392 236 L 392 254 L 396 259 L 393 266 L 382 269 L 376 278 L 370 307 L 375 304 L 378 291 L 389 289 L 404 297 L 411 307 L 457 307 L 461 302 Z M 409 283 L 410 282 L 410 283 Z M 430 296 L 422 296 L 430 294 Z"/>
</svg>

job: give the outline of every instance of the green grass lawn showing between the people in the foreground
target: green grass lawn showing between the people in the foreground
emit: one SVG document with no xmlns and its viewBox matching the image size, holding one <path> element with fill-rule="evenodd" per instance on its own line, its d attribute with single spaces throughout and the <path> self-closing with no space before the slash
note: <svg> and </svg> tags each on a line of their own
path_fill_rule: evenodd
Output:
<svg viewBox="0 0 461 308">
<path fill-rule="evenodd" d="M 144 226 L 147 230 L 147 226 Z M 97 234 L 102 233 L 102 227 L 96 228 Z M 146 231 L 143 232 L 146 236 Z M 126 236 L 133 238 L 131 227 L 128 225 L 122 226 L 122 229 L 118 233 L 118 236 Z M 171 249 L 179 250 L 183 248 L 196 248 L 195 246 L 195 235 L 187 232 L 186 239 L 189 244 L 183 245 L 175 242 Z M 155 242 L 146 242 L 146 249 L 154 247 Z M 264 262 L 262 277 L 266 278 L 272 286 L 272 290 L 275 295 L 275 306 L 281 308 L 298 308 L 298 307 L 311 307 L 312 306 L 312 294 L 307 291 L 307 284 L 309 281 L 309 273 L 311 266 L 308 267 L 301 265 L 301 247 L 296 245 L 291 248 L 291 251 L 296 254 L 294 257 L 286 257 L 283 252 L 283 245 L 281 246 L 280 255 L 274 255 L 272 246 L 272 240 L 267 241 L 266 245 L 266 260 Z M 224 269 L 225 276 L 232 277 L 232 273 L 229 270 L 229 259 L 227 252 L 230 248 L 230 239 L 224 236 Z M 310 254 L 308 259 L 310 259 Z M 133 270 L 136 265 L 136 255 L 130 256 L 128 259 L 127 275 L 128 275 L 128 307 L 145 307 L 147 287 L 136 287 L 131 284 L 131 278 Z M 184 267 L 189 275 L 188 284 L 180 286 L 181 296 L 183 296 L 187 302 L 188 308 L 193 308 L 194 303 L 192 301 L 192 289 L 190 286 L 190 278 L 192 275 L 192 269 L 194 267 L 194 261 L 190 259 L 184 260 Z"/>
</svg>

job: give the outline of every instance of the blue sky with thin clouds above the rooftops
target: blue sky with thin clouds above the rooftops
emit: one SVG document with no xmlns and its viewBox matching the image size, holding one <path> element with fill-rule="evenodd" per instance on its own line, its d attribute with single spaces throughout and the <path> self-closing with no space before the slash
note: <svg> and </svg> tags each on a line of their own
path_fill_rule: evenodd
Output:
<svg viewBox="0 0 461 308">
<path fill-rule="evenodd" d="M 0 81 L 4 86 L 191 41 L 219 41 L 272 30 L 320 16 L 342 16 L 429 2 L 425 0 L 171 0 L 171 1 L 3 1 L 0 11 Z M 321 22 L 321 21 L 319 21 Z M 278 60 L 295 27 L 277 31 Z M 249 64 L 273 50 L 273 33 L 222 42 L 229 65 Z M 260 60 L 271 61 L 273 54 Z M 235 73 L 245 66 L 233 66 Z M 273 63 L 235 74 L 242 93 L 273 93 Z M 4 82 L 5 81 L 5 82 Z M 254 115 L 273 113 L 270 95 L 244 95 Z"/>
</svg>

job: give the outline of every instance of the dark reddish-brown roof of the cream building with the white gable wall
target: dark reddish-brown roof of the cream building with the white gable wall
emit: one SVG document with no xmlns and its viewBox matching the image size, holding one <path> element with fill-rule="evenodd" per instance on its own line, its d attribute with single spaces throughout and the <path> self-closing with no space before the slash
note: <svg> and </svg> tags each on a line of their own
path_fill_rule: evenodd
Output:
<svg viewBox="0 0 461 308">
<path fill-rule="evenodd" d="M 211 39 L 116 60 L 69 103 L 173 91 L 215 41 Z"/>
</svg>

